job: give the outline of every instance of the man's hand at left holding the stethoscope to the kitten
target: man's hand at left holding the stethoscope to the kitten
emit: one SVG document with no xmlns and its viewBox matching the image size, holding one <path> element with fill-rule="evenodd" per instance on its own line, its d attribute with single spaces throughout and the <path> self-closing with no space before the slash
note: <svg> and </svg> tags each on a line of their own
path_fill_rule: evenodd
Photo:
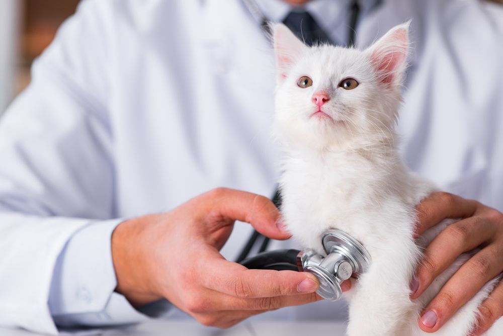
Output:
<svg viewBox="0 0 503 336">
<path fill-rule="evenodd" d="M 166 298 L 202 324 L 218 327 L 319 300 L 318 282 L 309 273 L 248 270 L 219 253 L 234 220 L 288 239 L 279 219 L 266 197 L 219 188 L 168 213 L 125 221 L 112 235 L 116 290 L 137 306 Z"/>
</svg>

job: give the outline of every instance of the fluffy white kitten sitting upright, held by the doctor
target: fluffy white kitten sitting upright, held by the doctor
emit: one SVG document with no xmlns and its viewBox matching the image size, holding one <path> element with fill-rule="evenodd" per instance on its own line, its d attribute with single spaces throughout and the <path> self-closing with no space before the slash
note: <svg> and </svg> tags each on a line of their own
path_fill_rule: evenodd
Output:
<svg viewBox="0 0 503 336">
<path fill-rule="evenodd" d="M 273 29 L 278 67 L 274 135 L 284 150 L 280 186 L 290 232 L 322 253 L 320 235 L 339 228 L 372 256 L 368 272 L 353 281 L 347 295 L 349 335 L 429 335 L 418 327 L 418 316 L 469 255 L 459 257 L 420 298 L 409 299 L 421 249 L 449 222 L 412 238 L 414 208 L 436 189 L 409 172 L 396 150 L 393 126 L 408 23 L 363 51 L 307 47 L 284 25 Z M 477 306 L 496 282 L 485 285 L 435 334 L 467 334 L 476 323 Z M 486 333 L 502 334 L 503 319 Z"/>
</svg>

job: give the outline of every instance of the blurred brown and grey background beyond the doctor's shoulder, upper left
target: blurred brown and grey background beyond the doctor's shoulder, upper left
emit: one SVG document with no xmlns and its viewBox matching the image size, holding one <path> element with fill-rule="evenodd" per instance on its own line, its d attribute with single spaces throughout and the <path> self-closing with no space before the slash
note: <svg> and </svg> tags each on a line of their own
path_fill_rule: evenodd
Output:
<svg viewBox="0 0 503 336">
<path fill-rule="evenodd" d="M 487 1 L 503 4 L 503 0 Z M 0 115 L 28 85 L 31 63 L 52 41 L 58 26 L 75 12 L 78 2 L 0 0 Z"/>
</svg>

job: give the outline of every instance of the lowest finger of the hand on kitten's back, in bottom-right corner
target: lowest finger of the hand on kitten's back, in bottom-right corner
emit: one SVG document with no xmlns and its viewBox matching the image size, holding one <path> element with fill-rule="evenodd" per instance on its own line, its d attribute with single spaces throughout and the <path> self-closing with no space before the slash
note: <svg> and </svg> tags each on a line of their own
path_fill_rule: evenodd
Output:
<svg viewBox="0 0 503 336">
<path fill-rule="evenodd" d="M 491 325 L 503 316 L 503 283 L 500 282 L 492 291 L 491 295 L 482 302 L 478 308 L 480 315 L 477 319 L 477 327 L 470 336 L 479 336 L 487 331 Z"/>
</svg>

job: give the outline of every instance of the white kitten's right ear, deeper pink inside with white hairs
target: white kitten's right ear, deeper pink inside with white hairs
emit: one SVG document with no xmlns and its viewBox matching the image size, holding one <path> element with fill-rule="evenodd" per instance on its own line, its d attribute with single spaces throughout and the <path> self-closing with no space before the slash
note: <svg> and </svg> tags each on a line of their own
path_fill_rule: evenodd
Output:
<svg viewBox="0 0 503 336">
<path fill-rule="evenodd" d="M 400 86 L 407 67 L 408 30 L 410 21 L 391 28 L 366 52 L 380 80 L 391 86 Z"/>
</svg>

